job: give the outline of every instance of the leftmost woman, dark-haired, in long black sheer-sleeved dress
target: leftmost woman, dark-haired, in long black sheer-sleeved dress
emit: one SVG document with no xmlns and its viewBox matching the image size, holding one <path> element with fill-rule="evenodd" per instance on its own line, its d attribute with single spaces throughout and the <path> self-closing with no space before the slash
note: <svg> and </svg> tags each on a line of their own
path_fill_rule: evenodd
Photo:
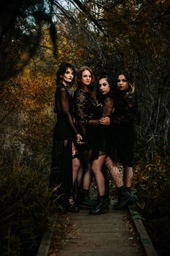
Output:
<svg viewBox="0 0 170 256">
<path fill-rule="evenodd" d="M 53 131 L 53 149 L 50 173 L 50 187 L 58 187 L 59 204 L 63 209 L 79 212 L 71 199 L 73 190 L 72 145 L 73 139 L 81 140 L 73 123 L 73 103 L 69 90 L 75 69 L 72 64 L 63 63 L 58 69 L 55 108 L 57 121 Z"/>
</svg>

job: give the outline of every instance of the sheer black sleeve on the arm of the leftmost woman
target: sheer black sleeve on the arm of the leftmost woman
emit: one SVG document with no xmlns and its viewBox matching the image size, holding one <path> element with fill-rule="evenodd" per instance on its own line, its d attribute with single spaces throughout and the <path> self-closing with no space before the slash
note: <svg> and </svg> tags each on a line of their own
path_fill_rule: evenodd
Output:
<svg viewBox="0 0 170 256">
<path fill-rule="evenodd" d="M 68 92 L 66 91 L 65 88 L 61 88 L 61 108 L 63 110 L 64 116 L 66 116 L 66 120 L 68 121 L 68 124 L 70 125 L 71 129 L 75 133 L 75 135 L 78 134 L 75 125 L 73 124 L 73 119 L 70 114 L 70 109 L 69 109 L 69 102 L 68 102 Z"/>
</svg>

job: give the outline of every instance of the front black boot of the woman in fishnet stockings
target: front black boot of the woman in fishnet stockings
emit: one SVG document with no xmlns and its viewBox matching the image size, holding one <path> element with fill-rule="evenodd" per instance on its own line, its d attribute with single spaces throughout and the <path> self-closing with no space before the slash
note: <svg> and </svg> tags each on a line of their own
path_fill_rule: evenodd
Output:
<svg viewBox="0 0 170 256">
<path fill-rule="evenodd" d="M 117 192 L 118 192 L 118 200 L 113 205 L 113 208 L 115 210 L 125 210 L 130 204 L 132 198 L 130 194 L 126 191 L 124 186 L 117 188 Z"/>
</svg>

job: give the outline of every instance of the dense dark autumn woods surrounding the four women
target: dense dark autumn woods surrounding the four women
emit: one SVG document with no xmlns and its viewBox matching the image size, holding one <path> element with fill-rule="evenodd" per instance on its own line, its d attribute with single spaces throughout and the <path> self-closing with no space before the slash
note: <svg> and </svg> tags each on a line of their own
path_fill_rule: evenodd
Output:
<svg viewBox="0 0 170 256">
<path fill-rule="evenodd" d="M 96 76 L 122 69 L 135 75 L 140 119 L 134 189 L 158 255 L 169 255 L 169 17 L 164 0 L 1 0 L 3 255 L 26 255 L 36 247 L 53 211 L 53 95 L 63 61 L 76 69 L 88 65 Z"/>
</svg>

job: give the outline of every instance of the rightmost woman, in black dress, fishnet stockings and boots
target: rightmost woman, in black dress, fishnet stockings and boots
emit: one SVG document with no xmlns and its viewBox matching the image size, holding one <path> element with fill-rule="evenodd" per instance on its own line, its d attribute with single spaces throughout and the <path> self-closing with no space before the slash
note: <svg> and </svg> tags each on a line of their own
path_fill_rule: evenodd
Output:
<svg viewBox="0 0 170 256">
<path fill-rule="evenodd" d="M 106 161 L 118 192 L 118 201 L 114 205 L 115 210 L 123 210 L 133 202 L 130 189 L 133 182 L 133 121 L 136 112 L 135 84 L 132 74 L 120 72 L 117 75 L 115 111 L 110 124 L 110 146 Z M 123 179 L 117 168 L 117 162 L 122 164 Z"/>
</svg>

